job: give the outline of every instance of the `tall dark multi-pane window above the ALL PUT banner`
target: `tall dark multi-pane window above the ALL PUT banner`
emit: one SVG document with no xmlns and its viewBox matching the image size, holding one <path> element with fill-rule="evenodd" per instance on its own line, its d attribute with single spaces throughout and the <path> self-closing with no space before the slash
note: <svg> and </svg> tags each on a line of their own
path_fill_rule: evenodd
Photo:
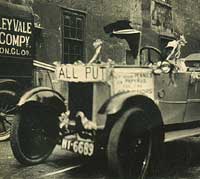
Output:
<svg viewBox="0 0 200 179">
<path fill-rule="evenodd" d="M 85 15 L 74 11 L 63 13 L 63 62 L 74 63 L 84 59 Z"/>
</svg>

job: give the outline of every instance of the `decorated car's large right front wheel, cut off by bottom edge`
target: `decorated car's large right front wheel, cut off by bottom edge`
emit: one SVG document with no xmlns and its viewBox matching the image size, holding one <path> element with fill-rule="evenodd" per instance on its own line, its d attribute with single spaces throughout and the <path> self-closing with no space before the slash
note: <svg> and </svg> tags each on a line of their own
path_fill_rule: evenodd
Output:
<svg viewBox="0 0 200 179">
<path fill-rule="evenodd" d="M 153 145 L 152 132 L 144 128 L 145 120 L 144 111 L 133 108 L 114 124 L 107 147 L 110 178 L 145 178 Z"/>
</svg>

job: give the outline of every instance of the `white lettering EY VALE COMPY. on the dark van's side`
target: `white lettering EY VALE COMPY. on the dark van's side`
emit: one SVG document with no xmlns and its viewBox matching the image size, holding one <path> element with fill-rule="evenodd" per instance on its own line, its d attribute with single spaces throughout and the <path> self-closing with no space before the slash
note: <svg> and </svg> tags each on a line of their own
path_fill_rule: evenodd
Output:
<svg viewBox="0 0 200 179">
<path fill-rule="evenodd" d="M 0 57 L 33 56 L 33 22 L 16 17 L 0 17 Z"/>
</svg>

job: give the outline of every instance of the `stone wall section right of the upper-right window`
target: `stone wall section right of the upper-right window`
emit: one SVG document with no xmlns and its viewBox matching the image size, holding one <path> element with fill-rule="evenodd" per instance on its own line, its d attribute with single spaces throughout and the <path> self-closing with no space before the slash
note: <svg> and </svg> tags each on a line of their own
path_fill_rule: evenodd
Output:
<svg viewBox="0 0 200 179">
<path fill-rule="evenodd" d="M 200 52 L 200 0 L 175 0 L 174 30 L 185 35 L 188 44 L 182 55 Z"/>
</svg>

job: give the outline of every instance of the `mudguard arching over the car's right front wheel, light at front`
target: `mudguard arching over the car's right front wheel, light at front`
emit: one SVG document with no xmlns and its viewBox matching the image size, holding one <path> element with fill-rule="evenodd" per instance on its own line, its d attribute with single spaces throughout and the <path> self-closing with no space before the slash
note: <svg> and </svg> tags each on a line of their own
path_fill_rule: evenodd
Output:
<svg viewBox="0 0 200 179">
<path fill-rule="evenodd" d="M 98 112 L 106 114 L 109 119 L 109 116 L 116 116 L 132 107 L 140 107 L 148 116 L 151 116 L 147 122 L 148 127 L 163 127 L 163 120 L 158 106 L 152 99 L 145 95 L 135 95 L 132 92 L 118 93 L 108 99 Z M 118 118 L 114 117 L 114 119 L 117 120 Z"/>
</svg>

